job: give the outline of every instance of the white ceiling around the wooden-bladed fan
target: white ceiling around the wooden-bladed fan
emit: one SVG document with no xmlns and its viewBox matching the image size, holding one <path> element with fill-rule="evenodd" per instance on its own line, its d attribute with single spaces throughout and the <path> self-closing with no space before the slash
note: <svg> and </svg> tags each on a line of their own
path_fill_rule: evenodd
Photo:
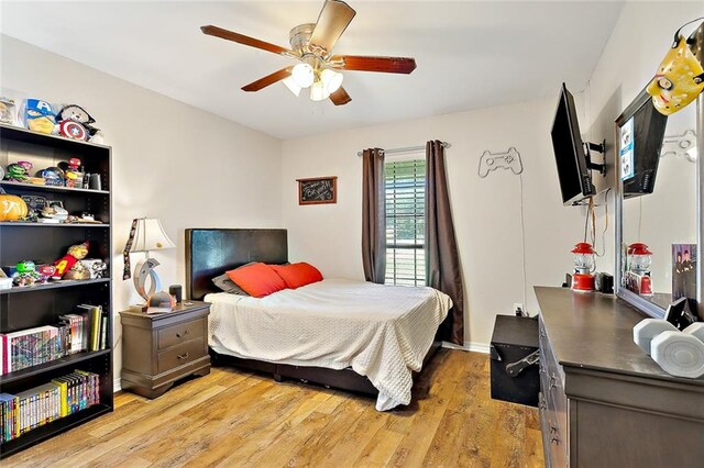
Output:
<svg viewBox="0 0 704 468">
<path fill-rule="evenodd" d="M 348 0 L 334 52 L 413 56 L 409 76 L 346 71 L 352 102 L 240 87 L 293 59 L 201 34 L 215 24 L 282 46 L 319 1 L 2 2 L 2 33 L 279 138 L 400 121 L 584 88 L 623 2 Z"/>
</svg>

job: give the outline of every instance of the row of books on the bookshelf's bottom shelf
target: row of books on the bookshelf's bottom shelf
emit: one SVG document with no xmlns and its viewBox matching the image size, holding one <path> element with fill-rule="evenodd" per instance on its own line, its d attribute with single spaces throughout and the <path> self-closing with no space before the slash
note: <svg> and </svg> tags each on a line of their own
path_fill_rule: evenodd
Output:
<svg viewBox="0 0 704 468">
<path fill-rule="evenodd" d="M 0 393 L 0 444 L 100 402 L 97 374 L 76 370 L 15 394 Z"/>
</svg>

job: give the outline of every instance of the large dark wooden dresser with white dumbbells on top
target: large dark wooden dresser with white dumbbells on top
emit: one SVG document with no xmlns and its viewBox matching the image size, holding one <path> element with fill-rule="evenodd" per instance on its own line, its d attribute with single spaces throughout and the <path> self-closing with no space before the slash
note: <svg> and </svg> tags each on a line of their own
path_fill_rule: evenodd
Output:
<svg viewBox="0 0 704 468">
<path fill-rule="evenodd" d="M 704 378 L 672 377 L 632 341 L 613 296 L 535 288 L 548 467 L 704 466 Z"/>
</svg>

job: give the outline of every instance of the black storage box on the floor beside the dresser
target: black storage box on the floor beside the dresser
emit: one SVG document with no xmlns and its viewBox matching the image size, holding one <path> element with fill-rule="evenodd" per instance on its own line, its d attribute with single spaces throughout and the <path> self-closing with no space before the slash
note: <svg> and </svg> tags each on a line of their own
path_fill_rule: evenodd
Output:
<svg viewBox="0 0 704 468">
<path fill-rule="evenodd" d="M 513 315 L 496 315 L 492 335 L 492 398 L 512 403 L 538 406 L 540 375 L 538 363 L 510 370 L 506 366 L 518 363 L 538 352 L 538 320 Z M 537 357 L 532 355 L 530 357 Z"/>
</svg>

